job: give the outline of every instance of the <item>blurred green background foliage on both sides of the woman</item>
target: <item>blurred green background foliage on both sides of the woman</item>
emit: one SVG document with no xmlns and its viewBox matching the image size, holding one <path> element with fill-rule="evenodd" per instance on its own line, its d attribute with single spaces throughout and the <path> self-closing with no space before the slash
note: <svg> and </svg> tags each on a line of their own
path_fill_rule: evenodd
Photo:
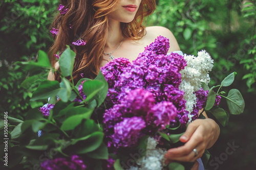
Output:
<svg viewBox="0 0 256 170">
<path fill-rule="evenodd" d="M 185 54 L 206 50 L 215 60 L 210 86 L 233 71 L 238 75 L 231 88 L 238 88 L 245 100 L 242 115 L 230 115 L 228 126 L 211 149 L 213 158 L 207 169 L 256 169 L 256 1 L 239 0 L 157 0 L 157 10 L 147 25 L 168 28 Z M 44 70 L 26 72 L 15 61 L 37 60 L 38 50 L 48 51 L 52 44 L 50 23 L 57 0 L 0 1 L 0 115 L 8 111 L 20 119 L 30 108 L 42 106 L 30 102 L 38 83 L 47 79 Z M 172 45 L 172 44 L 170 44 Z M 22 82 L 29 76 L 33 84 Z M 226 107 L 225 104 L 222 106 Z M 225 158 L 227 143 L 239 148 Z M 216 159 L 220 157 L 217 166 Z M 222 158 L 222 159 L 221 159 Z M 215 163 L 215 164 L 214 164 Z"/>
</svg>

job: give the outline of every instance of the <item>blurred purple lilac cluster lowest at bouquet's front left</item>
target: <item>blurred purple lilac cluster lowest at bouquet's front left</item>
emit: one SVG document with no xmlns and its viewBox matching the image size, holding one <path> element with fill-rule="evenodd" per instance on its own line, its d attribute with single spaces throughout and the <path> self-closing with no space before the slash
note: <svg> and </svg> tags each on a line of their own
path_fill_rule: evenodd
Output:
<svg viewBox="0 0 256 170">
<path fill-rule="evenodd" d="M 141 117 L 124 118 L 114 127 L 112 140 L 116 148 L 133 147 L 141 137 L 141 130 L 145 128 L 145 121 Z"/>
</svg>

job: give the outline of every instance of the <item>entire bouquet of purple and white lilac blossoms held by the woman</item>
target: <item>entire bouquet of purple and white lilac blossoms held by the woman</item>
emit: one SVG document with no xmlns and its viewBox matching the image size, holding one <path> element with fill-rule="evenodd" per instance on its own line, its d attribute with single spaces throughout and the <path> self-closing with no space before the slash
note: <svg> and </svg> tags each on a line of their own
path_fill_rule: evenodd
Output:
<svg viewBox="0 0 256 170">
<path fill-rule="evenodd" d="M 116 58 L 101 67 L 109 84 L 103 114 L 109 152 L 120 155 L 147 138 L 143 157 L 132 165 L 122 162 L 122 168 L 164 169 L 166 149 L 159 144 L 164 137 L 161 132 L 168 127 L 184 128 L 206 105 L 208 91 L 201 88 L 201 82 L 208 84 L 213 60 L 205 51 L 198 57 L 181 56 L 167 54 L 168 48 L 169 40 L 159 36 L 132 63 Z M 215 98 L 215 106 L 220 99 L 219 95 Z M 108 162 L 113 169 L 113 159 Z"/>
</svg>

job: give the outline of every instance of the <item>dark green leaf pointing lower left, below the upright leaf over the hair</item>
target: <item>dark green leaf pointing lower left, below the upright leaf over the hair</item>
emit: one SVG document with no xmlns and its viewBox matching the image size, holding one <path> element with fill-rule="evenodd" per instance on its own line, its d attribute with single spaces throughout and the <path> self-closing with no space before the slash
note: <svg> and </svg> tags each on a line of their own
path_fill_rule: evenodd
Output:
<svg viewBox="0 0 256 170">
<path fill-rule="evenodd" d="M 32 95 L 31 101 L 40 99 L 48 99 L 49 96 L 55 96 L 59 92 L 58 81 L 44 81 L 42 82 Z"/>
</svg>

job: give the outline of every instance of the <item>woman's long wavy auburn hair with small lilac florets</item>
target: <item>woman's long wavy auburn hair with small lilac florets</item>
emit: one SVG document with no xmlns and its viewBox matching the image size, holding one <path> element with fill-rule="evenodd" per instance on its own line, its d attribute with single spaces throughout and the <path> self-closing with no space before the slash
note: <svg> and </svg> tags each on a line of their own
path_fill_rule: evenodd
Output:
<svg viewBox="0 0 256 170">
<path fill-rule="evenodd" d="M 76 53 L 73 68 L 73 79 L 77 83 L 83 73 L 86 78 L 94 79 L 103 60 L 103 48 L 108 32 L 108 14 L 115 10 L 118 0 L 61 0 L 61 4 L 68 8 L 66 14 L 58 14 L 51 28 L 58 29 L 54 43 L 49 51 L 51 64 L 54 66 L 54 54 L 65 50 L 70 45 Z M 154 12 L 155 0 L 142 0 L 135 18 L 130 23 L 121 23 L 122 35 L 125 38 L 137 40 L 144 33 L 143 18 Z M 72 27 L 72 29 L 70 29 Z M 74 46 L 77 39 L 87 41 L 84 46 Z M 55 80 L 61 81 L 55 73 Z"/>
</svg>

